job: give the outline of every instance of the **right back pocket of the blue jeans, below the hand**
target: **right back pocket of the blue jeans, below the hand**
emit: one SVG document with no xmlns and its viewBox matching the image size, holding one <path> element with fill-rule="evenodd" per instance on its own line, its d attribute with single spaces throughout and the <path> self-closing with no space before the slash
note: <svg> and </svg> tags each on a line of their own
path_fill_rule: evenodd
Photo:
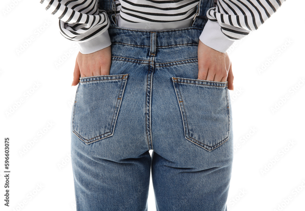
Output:
<svg viewBox="0 0 305 211">
<path fill-rule="evenodd" d="M 207 151 L 229 139 L 230 108 L 227 82 L 171 77 L 185 138 Z"/>
</svg>

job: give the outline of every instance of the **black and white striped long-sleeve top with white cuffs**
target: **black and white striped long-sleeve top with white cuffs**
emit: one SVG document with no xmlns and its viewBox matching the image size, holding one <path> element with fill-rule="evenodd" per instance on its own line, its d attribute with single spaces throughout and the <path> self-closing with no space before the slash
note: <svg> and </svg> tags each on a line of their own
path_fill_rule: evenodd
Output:
<svg viewBox="0 0 305 211">
<path fill-rule="evenodd" d="M 65 38 L 77 42 L 80 52 L 93 53 L 111 45 L 109 18 L 99 0 L 41 0 L 59 19 Z M 199 40 L 225 53 L 239 39 L 257 30 L 285 0 L 215 0 L 208 9 Z M 131 23 L 191 20 L 199 0 L 116 0 L 116 13 Z M 126 22 L 127 23 L 127 22 Z"/>
</svg>

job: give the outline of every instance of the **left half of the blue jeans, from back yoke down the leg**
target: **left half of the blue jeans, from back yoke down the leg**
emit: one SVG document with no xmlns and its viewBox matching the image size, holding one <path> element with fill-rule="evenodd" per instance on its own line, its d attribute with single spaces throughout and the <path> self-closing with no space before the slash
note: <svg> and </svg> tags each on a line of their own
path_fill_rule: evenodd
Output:
<svg viewBox="0 0 305 211">
<path fill-rule="evenodd" d="M 112 45 L 110 75 L 81 78 L 76 92 L 71 160 L 77 211 L 148 209 L 147 64 L 122 61 L 117 53 L 137 49 L 121 48 Z"/>
</svg>

